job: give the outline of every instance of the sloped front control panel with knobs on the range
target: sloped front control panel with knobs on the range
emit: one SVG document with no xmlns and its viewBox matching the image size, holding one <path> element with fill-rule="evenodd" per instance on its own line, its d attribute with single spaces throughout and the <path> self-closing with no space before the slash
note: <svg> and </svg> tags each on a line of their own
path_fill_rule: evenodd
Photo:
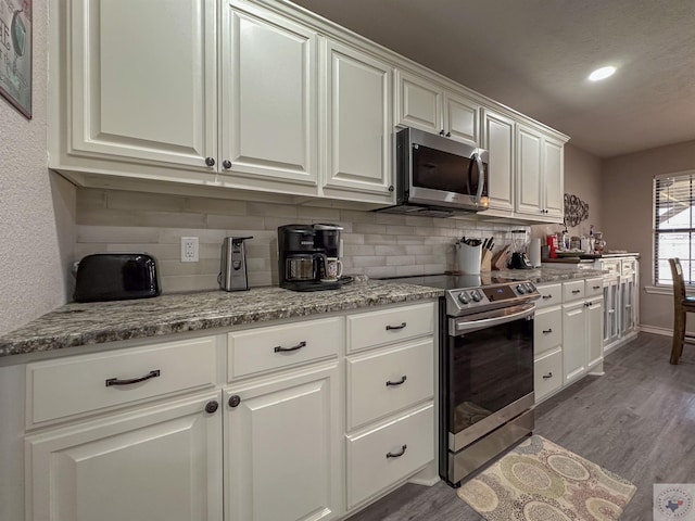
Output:
<svg viewBox="0 0 695 521">
<path fill-rule="evenodd" d="M 539 290 L 528 280 L 460 288 L 446 292 L 446 314 L 459 316 L 486 309 L 513 306 L 538 298 Z"/>
</svg>

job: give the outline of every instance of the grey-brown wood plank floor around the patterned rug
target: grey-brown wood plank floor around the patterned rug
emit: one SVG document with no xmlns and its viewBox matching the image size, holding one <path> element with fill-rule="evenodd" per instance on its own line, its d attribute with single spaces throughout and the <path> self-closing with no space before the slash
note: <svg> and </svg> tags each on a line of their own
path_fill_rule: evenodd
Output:
<svg viewBox="0 0 695 521">
<path fill-rule="evenodd" d="M 540 434 L 637 486 L 622 514 L 652 520 L 654 483 L 695 483 L 695 346 L 669 364 L 671 339 L 641 333 L 586 377 L 536 408 Z M 442 482 L 406 484 L 350 521 L 483 519 Z"/>
</svg>

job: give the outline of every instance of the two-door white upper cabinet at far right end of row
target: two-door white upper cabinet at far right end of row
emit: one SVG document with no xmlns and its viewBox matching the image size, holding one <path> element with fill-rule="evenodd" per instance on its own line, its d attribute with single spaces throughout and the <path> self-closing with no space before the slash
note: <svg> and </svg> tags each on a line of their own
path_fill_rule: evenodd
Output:
<svg viewBox="0 0 695 521">
<path fill-rule="evenodd" d="M 563 221 L 563 147 L 540 130 L 517 127 L 516 212 L 523 218 Z"/>
</svg>

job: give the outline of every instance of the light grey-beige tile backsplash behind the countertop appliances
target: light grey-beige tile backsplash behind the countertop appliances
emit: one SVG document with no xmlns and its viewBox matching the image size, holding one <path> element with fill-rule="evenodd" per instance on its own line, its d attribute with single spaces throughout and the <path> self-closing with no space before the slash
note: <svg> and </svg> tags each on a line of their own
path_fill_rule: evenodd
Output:
<svg viewBox="0 0 695 521">
<path fill-rule="evenodd" d="M 343 272 L 370 277 L 454 269 L 457 238 L 494 236 L 496 246 L 502 246 L 510 242 L 511 229 L 529 229 L 458 218 L 79 189 L 75 260 L 91 253 L 147 252 L 157 259 L 163 292 L 213 290 L 218 288 L 223 239 L 253 236 L 247 242 L 249 284 L 277 284 L 277 228 L 293 223 L 341 225 Z M 180 262 L 181 237 L 199 238 L 198 263 Z"/>
</svg>

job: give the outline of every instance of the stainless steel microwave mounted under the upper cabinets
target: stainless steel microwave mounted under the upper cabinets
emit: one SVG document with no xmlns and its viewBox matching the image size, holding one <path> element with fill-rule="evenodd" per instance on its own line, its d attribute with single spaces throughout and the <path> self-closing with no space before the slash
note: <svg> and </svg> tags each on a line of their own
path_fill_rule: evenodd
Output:
<svg viewBox="0 0 695 521">
<path fill-rule="evenodd" d="M 450 217 L 488 209 L 488 151 L 405 128 L 396 134 L 395 206 L 409 215 Z"/>
</svg>

